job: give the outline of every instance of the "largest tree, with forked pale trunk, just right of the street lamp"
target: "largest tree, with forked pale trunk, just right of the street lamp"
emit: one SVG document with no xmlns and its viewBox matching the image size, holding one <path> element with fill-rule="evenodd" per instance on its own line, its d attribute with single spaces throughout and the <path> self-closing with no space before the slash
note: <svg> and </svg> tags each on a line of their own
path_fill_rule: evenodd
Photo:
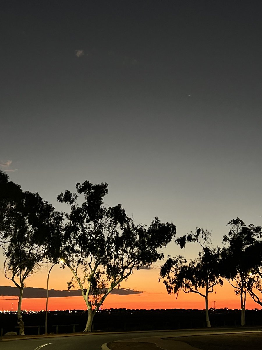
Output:
<svg viewBox="0 0 262 350">
<path fill-rule="evenodd" d="M 111 290 L 119 287 L 135 268 L 149 267 L 162 259 L 159 250 L 172 240 L 176 228 L 172 223 L 160 223 L 157 217 L 148 228 L 136 226 L 121 204 L 105 208 L 106 183 L 93 185 L 85 181 L 77 183 L 76 188 L 78 194 L 67 190 L 58 196 L 71 208 L 59 255 L 73 273 L 68 289 L 78 285 L 81 290 L 88 309 L 85 332 L 90 332 L 93 317 Z M 79 205 L 81 194 L 85 200 Z"/>
</svg>

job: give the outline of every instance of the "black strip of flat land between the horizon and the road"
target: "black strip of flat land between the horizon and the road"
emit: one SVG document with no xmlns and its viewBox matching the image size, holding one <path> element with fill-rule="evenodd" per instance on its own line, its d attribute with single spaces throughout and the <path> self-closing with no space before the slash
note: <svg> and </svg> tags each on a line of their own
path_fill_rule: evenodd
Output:
<svg viewBox="0 0 262 350">
<path fill-rule="evenodd" d="M 73 310 L 51 311 L 48 315 L 48 333 L 56 333 L 55 325 L 61 325 L 59 333 L 71 333 L 72 324 L 76 324 L 75 331 L 84 330 L 87 322 L 87 311 Z M 240 310 L 216 309 L 210 310 L 210 321 L 213 327 L 240 327 Z M 17 316 L 0 313 L 0 329 L 3 334 L 8 331 L 17 331 Z M 36 314 L 23 314 L 26 326 L 26 335 L 37 334 L 37 328 L 27 326 L 40 325 L 40 334 L 44 333 L 45 312 Z M 63 326 L 62 326 L 63 325 Z M 164 329 L 192 329 L 205 327 L 203 310 L 101 310 L 94 317 L 94 330 L 102 331 L 142 331 Z M 262 325 L 262 310 L 247 310 L 246 325 Z M 262 348 L 262 347 L 261 347 Z"/>
</svg>

